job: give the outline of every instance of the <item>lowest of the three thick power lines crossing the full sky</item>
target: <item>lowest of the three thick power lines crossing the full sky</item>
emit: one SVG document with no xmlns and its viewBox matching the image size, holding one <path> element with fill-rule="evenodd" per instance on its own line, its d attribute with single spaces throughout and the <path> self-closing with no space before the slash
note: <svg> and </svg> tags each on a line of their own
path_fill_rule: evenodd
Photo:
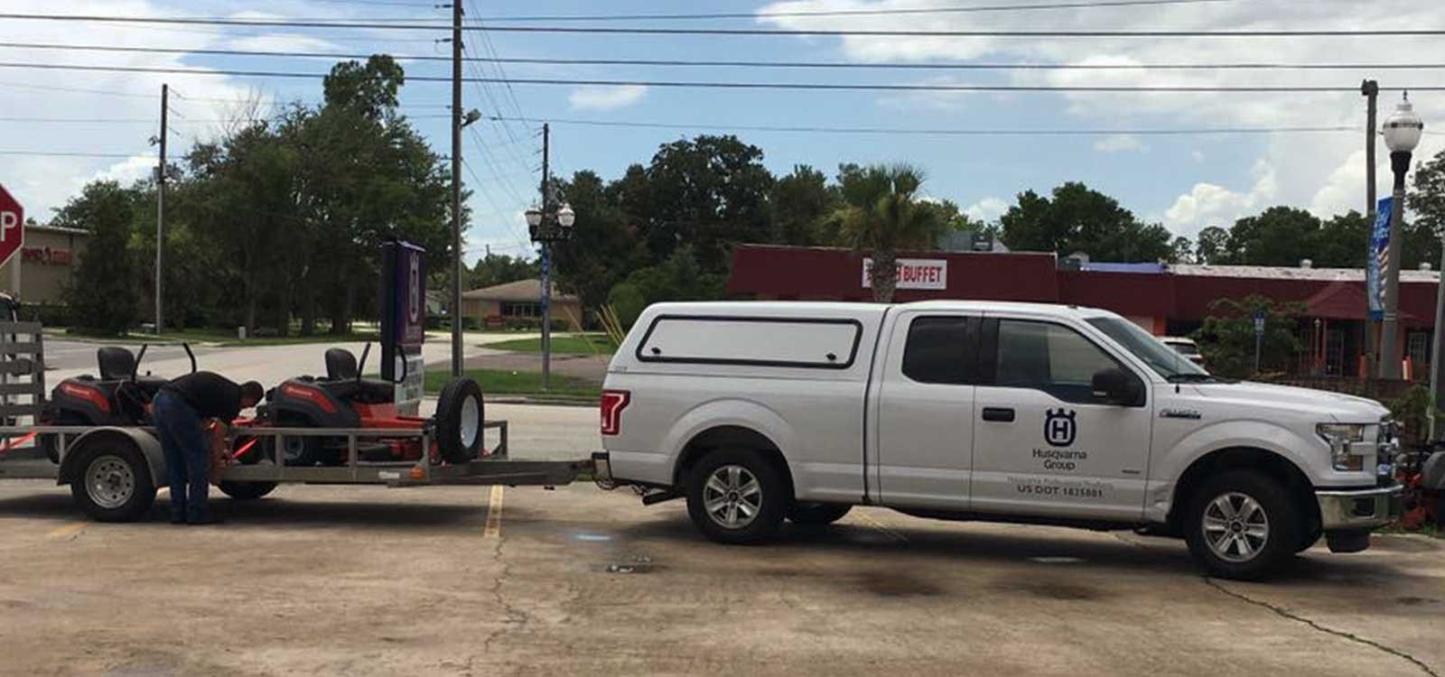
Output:
<svg viewBox="0 0 1445 677">
<path fill-rule="evenodd" d="M 0 68 L 43 71 L 149 72 L 168 75 L 228 75 L 246 78 L 325 78 L 325 74 L 288 71 L 234 71 L 201 68 L 97 66 L 84 64 L 0 62 Z M 409 75 L 412 82 L 451 82 L 445 77 Z M 462 78 L 464 82 L 503 82 L 501 78 Z M 952 92 L 1357 92 L 1337 85 L 952 85 L 952 84 L 850 84 L 850 82 L 737 82 L 659 79 L 510 78 L 516 85 L 659 87 L 702 89 L 805 89 L 805 91 L 952 91 Z M 1381 87 L 1380 91 L 1445 91 L 1445 85 Z"/>
</svg>

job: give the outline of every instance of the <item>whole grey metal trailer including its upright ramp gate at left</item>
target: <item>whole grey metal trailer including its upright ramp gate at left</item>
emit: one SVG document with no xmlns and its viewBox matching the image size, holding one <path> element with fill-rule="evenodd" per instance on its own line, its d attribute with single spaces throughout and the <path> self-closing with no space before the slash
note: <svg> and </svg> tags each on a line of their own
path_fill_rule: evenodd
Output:
<svg viewBox="0 0 1445 677">
<path fill-rule="evenodd" d="M 43 333 L 35 322 L 0 320 L 0 479 L 53 479 L 69 485 L 77 505 L 98 521 L 143 518 L 166 486 L 166 460 L 150 426 L 17 424 L 40 420 L 46 406 Z M 194 359 L 194 357 L 192 357 Z M 480 410 L 478 410 L 480 414 Z M 480 419 L 480 416 L 478 416 Z M 434 453 L 415 460 L 366 459 L 377 440 L 418 440 L 431 449 L 434 426 L 419 427 L 282 427 L 237 426 L 228 449 L 249 440 L 256 449 L 236 453 L 233 463 L 212 469 L 220 491 L 236 499 L 262 498 L 279 484 L 331 485 L 539 485 L 558 486 L 594 471 L 585 460 L 519 460 L 507 455 L 507 422 L 481 420 L 497 442 L 465 463 L 444 463 Z M 329 465 L 288 465 L 288 440 L 345 440 L 345 453 Z M 46 442 L 46 445 L 42 445 Z M 26 446 L 32 443 L 33 446 Z M 38 453 L 49 446 L 55 458 Z"/>
</svg>

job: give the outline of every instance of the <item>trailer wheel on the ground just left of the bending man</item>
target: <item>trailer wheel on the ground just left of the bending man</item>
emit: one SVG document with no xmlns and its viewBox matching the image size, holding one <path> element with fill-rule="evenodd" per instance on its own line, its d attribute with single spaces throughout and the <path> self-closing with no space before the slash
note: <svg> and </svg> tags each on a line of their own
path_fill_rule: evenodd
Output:
<svg viewBox="0 0 1445 677">
<path fill-rule="evenodd" d="M 136 445 L 120 439 L 103 439 L 81 449 L 71 497 L 101 523 L 129 523 L 144 517 L 156 501 L 156 485 L 150 466 Z"/>
</svg>

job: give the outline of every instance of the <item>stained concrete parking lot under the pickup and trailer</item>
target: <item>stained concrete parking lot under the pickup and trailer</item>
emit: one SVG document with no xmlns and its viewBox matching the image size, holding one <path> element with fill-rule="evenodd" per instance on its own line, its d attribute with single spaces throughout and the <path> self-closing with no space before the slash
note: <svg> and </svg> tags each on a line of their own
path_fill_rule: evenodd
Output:
<svg viewBox="0 0 1445 677">
<path fill-rule="evenodd" d="M 519 456 L 597 442 L 590 409 L 488 413 Z M 585 484 L 282 486 L 218 527 L 162 502 L 94 524 L 0 482 L 0 674 L 1445 673 L 1445 549 L 1415 536 L 1261 585 L 1169 540 L 876 508 L 724 547 Z"/>
</svg>

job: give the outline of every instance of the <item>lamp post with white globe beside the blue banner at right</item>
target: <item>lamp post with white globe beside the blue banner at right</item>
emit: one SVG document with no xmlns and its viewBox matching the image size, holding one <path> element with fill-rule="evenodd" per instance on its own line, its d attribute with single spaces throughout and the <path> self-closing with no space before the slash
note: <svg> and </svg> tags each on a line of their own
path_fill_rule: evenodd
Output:
<svg viewBox="0 0 1445 677">
<path fill-rule="evenodd" d="M 1380 329 L 1380 377 L 1400 378 L 1400 221 L 1405 217 L 1405 173 L 1410 169 L 1410 152 L 1420 143 L 1425 123 L 1415 114 L 1409 92 L 1384 118 L 1384 144 L 1390 149 L 1390 169 L 1394 172 L 1394 192 L 1390 201 L 1390 247 L 1384 279 L 1384 323 Z"/>
</svg>

